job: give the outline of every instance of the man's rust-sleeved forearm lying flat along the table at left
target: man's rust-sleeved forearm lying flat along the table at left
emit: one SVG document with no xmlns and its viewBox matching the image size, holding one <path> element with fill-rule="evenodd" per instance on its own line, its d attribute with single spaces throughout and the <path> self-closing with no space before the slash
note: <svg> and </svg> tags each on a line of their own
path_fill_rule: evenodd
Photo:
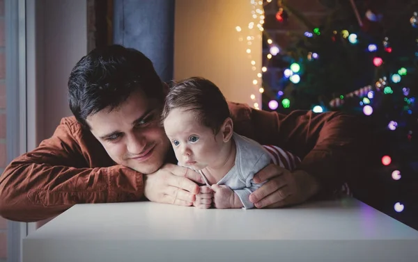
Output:
<svg viewBox="0 0 418 262">
<path fill-rule="evenodd" d="M 142 175 L 127 167 L 79 169 L 17 158 L 0 177 L 0 215 L 34 222 L 74 204 L 137 201 L 143 192 Z"/>
</svg>

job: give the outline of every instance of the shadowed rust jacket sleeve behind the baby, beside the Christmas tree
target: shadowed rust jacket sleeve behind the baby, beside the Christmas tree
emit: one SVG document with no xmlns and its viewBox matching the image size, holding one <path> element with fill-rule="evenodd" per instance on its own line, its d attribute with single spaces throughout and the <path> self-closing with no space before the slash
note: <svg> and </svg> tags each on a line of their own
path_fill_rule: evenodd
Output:
<svg viewBox="0 0 418 262">
<path fill-rule="evenodd" d="M 304 110 L 283 115 L 250 109 L 249 117 L 243 119 L 248 120 L 235 125 L 241 130 L 238 133 L 299 156 L 302 162 L 297 169 L 316 177 L 323 193 L 339 190 L 344 182 L 358 176 L 365 165 L 368 130 L 354 115 Z"/>
</svg>

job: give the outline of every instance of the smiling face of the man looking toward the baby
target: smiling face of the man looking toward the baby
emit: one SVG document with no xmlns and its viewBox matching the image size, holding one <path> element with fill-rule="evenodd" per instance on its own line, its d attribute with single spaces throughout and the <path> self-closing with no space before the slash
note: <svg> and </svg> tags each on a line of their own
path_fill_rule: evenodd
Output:
<svg viewBox="0 0 418 262">
<path fill-rule="evenodd" d="M 138 91 L 119 108 L 104 108 L 86 122 L 113 161 L 150 174 L 162 166 L 170 147 L 160 124 L 161 108 L 162 102 Z"/>
</svg>

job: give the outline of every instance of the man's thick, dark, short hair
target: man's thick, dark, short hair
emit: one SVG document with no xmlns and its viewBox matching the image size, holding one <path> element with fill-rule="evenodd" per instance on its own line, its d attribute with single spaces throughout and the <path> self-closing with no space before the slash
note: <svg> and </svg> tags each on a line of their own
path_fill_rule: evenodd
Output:
<svg viewBox="0 0 418 262">
<path fill-rule="evenodd" d="M 68 101 L 72 114 L 88 127 L 89 115 L 118 108 L 137 90 L 164 102 L 163 84 L 150 59 L 136 49 L 113 44 L 94 49 L 75 65 L 68 80 Z"/>
</svg>

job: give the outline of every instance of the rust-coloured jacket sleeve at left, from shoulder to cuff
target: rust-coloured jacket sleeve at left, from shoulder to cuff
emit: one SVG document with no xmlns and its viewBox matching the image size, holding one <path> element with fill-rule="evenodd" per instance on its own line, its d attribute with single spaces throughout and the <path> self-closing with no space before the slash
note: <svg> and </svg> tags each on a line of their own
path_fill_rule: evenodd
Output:
<svg viewBox="0 0 418 262">
<path fill-rule="evenodd" d="M 52 138 L 15 158 L 0 177 L 0 215 L 34 222 L 74 204 L 141 199 L 142 174 L 121 165 L 88 167 L 86 155 L 65 120 Z"/>
</svg>

